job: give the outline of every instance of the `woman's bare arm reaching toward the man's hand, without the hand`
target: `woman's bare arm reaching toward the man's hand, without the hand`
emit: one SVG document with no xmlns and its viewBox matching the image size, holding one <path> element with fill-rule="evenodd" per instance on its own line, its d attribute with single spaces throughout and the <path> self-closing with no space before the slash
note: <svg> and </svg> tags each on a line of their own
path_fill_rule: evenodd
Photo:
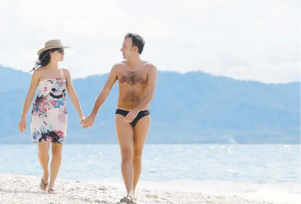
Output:
<svg viewBox="0 0 301 204">
<path fill-rule="evenodd" d="M 74 107 L 79 115 L 79 118 L 82 118 L 82 117 L 84 117 L 84 114 L 81 110 L 79 99 L 77 97 L 74 86 L 72 84 L 71 74 L 70 74 L 69 70 L 66 68 L 64 68 L 64 72 L 65 72 L 65 76 L 66 76 L 66 89 L 68 91 L 70 101 L 74 105 Z"/>
</svg>

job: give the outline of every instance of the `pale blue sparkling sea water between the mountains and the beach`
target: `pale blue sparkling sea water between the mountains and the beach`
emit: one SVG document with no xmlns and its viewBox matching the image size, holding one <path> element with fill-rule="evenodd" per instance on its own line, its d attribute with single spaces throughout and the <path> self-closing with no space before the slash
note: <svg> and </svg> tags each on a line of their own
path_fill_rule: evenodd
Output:
<svg viewBox="0 0 301 204">
<path fill-rule="evenodd" d="M 0 173 L 41 176 L 37 145 L 0 145 Z M 151 145 L 138 188 L 299 204 L 300 145 Z M 118 145 L 70 145 L 58 179 L 123 187 Z"/>
</svg>

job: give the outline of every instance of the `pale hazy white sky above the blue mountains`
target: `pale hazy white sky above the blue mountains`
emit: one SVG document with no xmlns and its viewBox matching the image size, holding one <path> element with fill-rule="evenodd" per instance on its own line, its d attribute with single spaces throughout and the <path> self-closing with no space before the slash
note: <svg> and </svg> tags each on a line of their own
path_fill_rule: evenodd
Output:
<svg viewBox="0 0 301 204">
<path fill-rule="evenodd" d="M 74 78 L 107 73 L 133 32 L 159 70 L 300 81 L 300 8 L 299 0 L 0 0 L 0 64 L 28 71 L 45 41 L 61 39 L 72 48 L 60 65 Z"/>
</svg>

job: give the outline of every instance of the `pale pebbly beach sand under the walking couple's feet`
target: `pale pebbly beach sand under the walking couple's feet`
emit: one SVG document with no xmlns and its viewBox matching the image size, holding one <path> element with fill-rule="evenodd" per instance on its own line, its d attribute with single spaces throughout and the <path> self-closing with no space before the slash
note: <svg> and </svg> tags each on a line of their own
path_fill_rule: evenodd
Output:
<svg viewBox="0 0 301 204">
<path fill-rule="evenodd" d="M 120 204 L 124 188 L 94 185 L 80 181 L 56 181 L 56 194 L 38 188 L 40 177 L 0 174 L 0 204 Z M 136 192 L 137 204 L 269 204 L 223 195 L 191 192 Z"/>
</svg>

